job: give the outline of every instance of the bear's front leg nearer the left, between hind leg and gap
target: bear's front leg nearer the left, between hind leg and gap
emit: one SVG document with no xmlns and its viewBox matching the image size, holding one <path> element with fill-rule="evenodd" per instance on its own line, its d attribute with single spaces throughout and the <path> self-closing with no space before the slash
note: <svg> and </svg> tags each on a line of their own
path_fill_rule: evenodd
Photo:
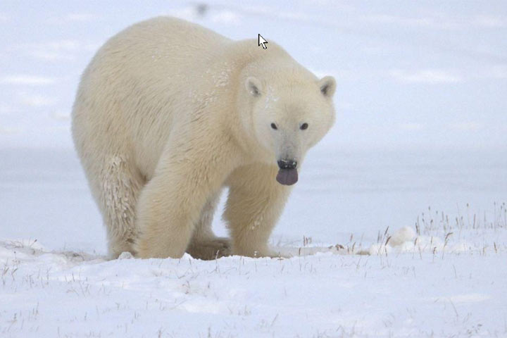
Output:
<svg viewBox="0 0 507 338">
<path fill-rule="evenodd" d="M 201 149 L 197 154 L 169 152 L 161 158 L 137 204 L 138 257 L 183 256 L 204 204 L 232 170 L 227 158 L 231 155 L 227 151 L 220 155 Z"/>
</svg>

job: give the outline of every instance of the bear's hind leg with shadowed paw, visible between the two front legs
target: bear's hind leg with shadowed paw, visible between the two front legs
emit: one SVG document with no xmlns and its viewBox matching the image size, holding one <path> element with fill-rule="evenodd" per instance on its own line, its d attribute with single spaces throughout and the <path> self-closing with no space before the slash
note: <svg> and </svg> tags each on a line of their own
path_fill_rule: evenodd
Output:
<svg viewBox="0 0 507 338">
<path fill-rule="evenodd" d="M 206 202 L 201 211 L 201 218 L 195 225 L 192 240 L 187 252 L 194 258 L 211 260 L 230 256 L 230 241 L 225 237 L 216 237 L 211 230 L 213 215 L 220 195 L 213 196 Z"/>
</svg>

